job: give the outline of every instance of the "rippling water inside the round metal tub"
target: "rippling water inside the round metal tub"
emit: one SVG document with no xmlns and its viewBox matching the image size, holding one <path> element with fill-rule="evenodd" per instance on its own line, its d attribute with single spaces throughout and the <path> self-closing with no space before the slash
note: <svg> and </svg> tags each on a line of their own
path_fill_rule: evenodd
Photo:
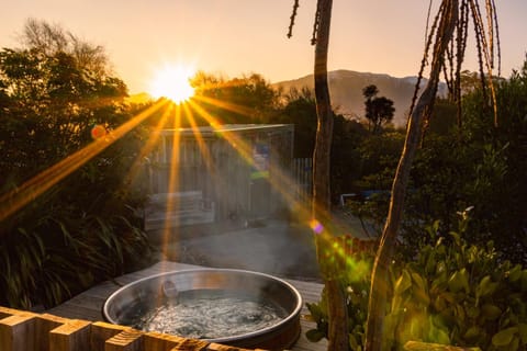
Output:
<svg viewBox="0 0 527 351">
<path fill-rule="evenodd" d="M 180 292 L 177 299 L 145 309 L 132 306 L 128 325 L 193 339 L 217 339 L 257 331 L 287 317 L 284 308 L 255 296 L 225 291 Z"/>
</svg>

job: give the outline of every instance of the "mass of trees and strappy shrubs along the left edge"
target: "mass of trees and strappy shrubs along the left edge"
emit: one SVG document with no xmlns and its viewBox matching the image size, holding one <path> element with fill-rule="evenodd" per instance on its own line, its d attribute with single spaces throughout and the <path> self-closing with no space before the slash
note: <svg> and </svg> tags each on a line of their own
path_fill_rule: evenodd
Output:
<svg viewBox="0 0 527 351">
<path fill-rule="evenodd" d="M 25 30 L 27 47 L 0 52 L 2 194 L 131 117 L 126 86 L 100 47 L 45 22 Z M 115 140 L 0 223 L 1 305 L 49 307 L 148 260 L 134 210 L 145 197 L 133 167 L 145 132 Z"/>
</svg>

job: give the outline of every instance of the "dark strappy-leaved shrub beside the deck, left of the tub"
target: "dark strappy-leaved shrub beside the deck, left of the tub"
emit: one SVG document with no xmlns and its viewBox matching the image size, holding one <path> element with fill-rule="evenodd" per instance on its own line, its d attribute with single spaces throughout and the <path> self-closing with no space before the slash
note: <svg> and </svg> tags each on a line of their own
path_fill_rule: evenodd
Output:
<svg viewBox="0 0 527 351">
<path fill-rule="evenodd" d="M 47 206 L 46 206 L 47 205 Z M 124 204 L 108 214 L 35 201 L 0 226 L 0 305 L 53 307 L 152 261 L 147 237 Z"/>
</svg>

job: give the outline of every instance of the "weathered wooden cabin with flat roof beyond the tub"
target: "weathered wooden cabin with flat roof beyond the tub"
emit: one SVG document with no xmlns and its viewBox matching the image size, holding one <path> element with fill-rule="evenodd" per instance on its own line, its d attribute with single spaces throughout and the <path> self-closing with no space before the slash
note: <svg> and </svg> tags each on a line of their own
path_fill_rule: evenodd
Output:
<svg viewBox="0 0 527 351">
<path fill-rule="evenodd" d="M 162 129 L 146 165 L 145 229 L 264 219 L 283 212 L 290 124 Z"/>
</svg>

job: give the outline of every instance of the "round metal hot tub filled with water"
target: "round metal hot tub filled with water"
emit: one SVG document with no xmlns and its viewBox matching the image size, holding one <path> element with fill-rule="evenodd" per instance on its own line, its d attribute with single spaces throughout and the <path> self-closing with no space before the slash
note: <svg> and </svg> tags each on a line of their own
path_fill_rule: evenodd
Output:
<svg viewBox="0 0 527 351">
<path fill-rule="evenodd" d="M 127 284 L 104 318 L 145 331 L 239 348 L 283 350 L 300 336 L 302 297 L 272 275 L 228 269 L 166 272 Z"/>
</svg>

